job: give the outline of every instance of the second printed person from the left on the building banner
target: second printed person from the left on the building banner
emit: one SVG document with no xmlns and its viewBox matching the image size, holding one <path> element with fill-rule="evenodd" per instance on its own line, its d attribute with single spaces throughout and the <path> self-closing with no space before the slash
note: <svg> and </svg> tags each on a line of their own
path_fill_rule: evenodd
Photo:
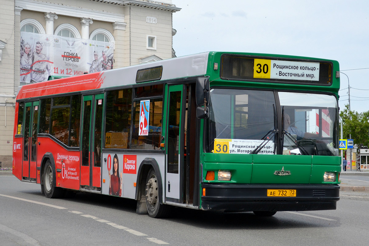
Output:
<svg viewBox="0 0 369 246">
<path fill-rule="evenodd" d="M 31 82 L 42 82 L 48 80 L 52 74 L 49 58 L 42 52 L 44 45 L 41 41 L 36 42 L 33 52 L 33 67 L 31 72 Z"/>
</svg>

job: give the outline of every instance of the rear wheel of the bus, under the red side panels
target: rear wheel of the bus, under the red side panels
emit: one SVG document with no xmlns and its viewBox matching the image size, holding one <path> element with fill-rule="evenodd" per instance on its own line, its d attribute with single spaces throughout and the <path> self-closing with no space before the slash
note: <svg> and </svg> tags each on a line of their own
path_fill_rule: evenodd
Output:
<svg viewBox="0 0 369 246">
<path fill-rule="evenodd" d="M 50 160 L 46 161 L 44 171 L 42 173 L 42 185 L 44 187 L 45 197 L 47 198 L 59 198 L 63 195 L 63 189 L 55 187 L 54 184 L 55 171 L 51 166 Z"/>
</svg>

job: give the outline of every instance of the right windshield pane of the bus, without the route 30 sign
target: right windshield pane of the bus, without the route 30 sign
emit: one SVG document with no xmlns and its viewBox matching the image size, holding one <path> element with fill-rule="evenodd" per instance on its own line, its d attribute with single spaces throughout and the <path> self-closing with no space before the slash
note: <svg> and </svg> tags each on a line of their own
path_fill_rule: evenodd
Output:
<svg viewBox="0 0 369 246">
<path fill-rule="evenodd" d="M 338 108 L 334 96 L 279 92 L 278 97 L 284 118 L 283 153 L 338 155 Z M 296 141 L 302 147 L 297 148 Z"/>
</svg>

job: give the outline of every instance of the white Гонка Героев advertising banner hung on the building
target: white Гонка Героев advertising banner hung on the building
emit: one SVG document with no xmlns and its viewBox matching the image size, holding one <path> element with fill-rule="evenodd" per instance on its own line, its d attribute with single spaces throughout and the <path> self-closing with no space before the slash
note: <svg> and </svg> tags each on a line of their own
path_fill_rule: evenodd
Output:
<svg viewBox="0 0 369 246">
<path fill-rule="evenodd" d="M 20 82 L 70 77 L 113 67 L 113 43 L 21 32 Z"/>
</svg>

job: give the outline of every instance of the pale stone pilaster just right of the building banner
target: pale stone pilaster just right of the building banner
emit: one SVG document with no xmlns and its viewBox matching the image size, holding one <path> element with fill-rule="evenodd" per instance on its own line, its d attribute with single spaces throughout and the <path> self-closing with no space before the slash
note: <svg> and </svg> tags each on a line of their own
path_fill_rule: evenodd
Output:
<svg viewBox="0 0 369 246">
<path fill-rule="evenodd" d="M 113 23 L 113 36 L 115 39 L 114 44 L 114 60 L 119 62 L 115 62 L 114 68 L 118 67 L 127 67 L 130 66 L 129 60 L 129 46 L 127 47 L 127 42 L 125 40 L 125 27 L 127 23 L 125 22 L 114 22 Z M 129 42 L 128 42 L 129 44 Z"/>
</svg>

